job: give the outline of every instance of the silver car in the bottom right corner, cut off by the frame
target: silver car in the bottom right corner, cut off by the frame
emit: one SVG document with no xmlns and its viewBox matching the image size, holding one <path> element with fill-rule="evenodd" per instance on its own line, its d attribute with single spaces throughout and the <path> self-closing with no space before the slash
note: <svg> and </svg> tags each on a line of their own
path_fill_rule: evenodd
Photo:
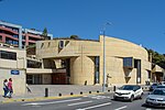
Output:
<svg viewBox="0 0 165 110">
<path fill-rule="evenodd" d="M 145 103 L 153 107 L 165 107 L 165 88 L 155 88 L 146 97 Z"/>
</svg>

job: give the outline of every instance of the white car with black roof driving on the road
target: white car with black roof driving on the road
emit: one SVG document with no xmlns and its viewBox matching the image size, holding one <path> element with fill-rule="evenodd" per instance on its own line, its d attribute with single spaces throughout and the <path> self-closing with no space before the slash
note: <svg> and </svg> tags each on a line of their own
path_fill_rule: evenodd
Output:
<svg viewBox="0 0 165 110">
<path fill-rule="evenodd" d="M 136 98 L 142 99 L 143 89 L 138 85 L 124 85 L 116 90 L 113 99 L 133 101 Z"/>
</svg>

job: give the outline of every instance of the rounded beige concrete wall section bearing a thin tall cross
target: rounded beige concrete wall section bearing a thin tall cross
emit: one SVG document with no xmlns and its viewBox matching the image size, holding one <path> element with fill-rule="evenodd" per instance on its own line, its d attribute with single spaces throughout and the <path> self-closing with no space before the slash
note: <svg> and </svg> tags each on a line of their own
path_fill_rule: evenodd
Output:
<svg viewBox="0 0 165 110">
<path fill-rule="evenodd" d="M 94 58 L 87 56 L 74 57 L 70 59 L 70 82 L 84 85 L 94 85 Z"/>
</svg>

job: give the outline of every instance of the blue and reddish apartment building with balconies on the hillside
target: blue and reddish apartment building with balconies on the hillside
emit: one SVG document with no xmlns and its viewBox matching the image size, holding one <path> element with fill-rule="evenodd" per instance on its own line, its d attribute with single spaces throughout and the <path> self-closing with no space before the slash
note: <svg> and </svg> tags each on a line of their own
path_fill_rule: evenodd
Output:
<svg viewBox="0 0 165 110">
<path fill-rule="evenodd" d="M 43 32 L 35 29 L 23 29 L 22 25 L 0 21 L 0 42 L 14 47 L 35 44 L 40 40 L 52 40 L 53 34 L 42 35 Z"/>
</svg>

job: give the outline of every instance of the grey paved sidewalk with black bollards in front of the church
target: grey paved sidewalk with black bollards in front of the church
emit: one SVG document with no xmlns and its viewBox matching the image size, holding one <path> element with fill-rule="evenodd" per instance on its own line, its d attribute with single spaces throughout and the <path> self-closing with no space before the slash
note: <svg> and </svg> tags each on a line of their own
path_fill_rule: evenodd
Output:
<svg viewBox="0 0 165 110">
<path fill-rule="evenodd" d="M 78 86 L 78 85 L 31 85 L 29 86 L 32 92 L 25 95 L 14 95 L 11 99 L 0 97 L 0 103 L 15 102 L 15 101 L 36 101 L 45 99 L 57 99 L 63 97 L 69 97 L 75 95 L 87 95 L 102 92 L 101 86 Z M 45 97 L 45 88 L 47 89 L 47 96 Z M 112 87 L 107 87 L 106 92 L 113 90 Z"/>
</svg>

